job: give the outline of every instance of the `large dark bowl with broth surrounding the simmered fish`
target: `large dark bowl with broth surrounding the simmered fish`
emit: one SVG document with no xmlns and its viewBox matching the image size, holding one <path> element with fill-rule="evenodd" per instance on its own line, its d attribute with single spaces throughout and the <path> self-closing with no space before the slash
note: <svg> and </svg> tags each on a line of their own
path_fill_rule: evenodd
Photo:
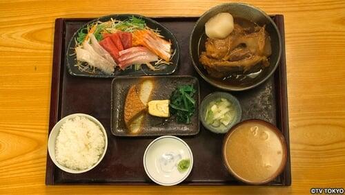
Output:
<svg viewBox="0 0 345 195">
<path fill-rule="evenodd" d="M 204 66 L 199 62 L 199 55 L 205 49 L 206 33 L 205 24 L 211 17 L 220 12 L 229 12 L 234 19 L 241 18 L 252 21 L 259 26 L 266 25 L 266 31 L 270 35 L 270 45 L 272 47 L 272 54 L 268 57 L 270 66 L 263 68 L 262 71 L 257 71 L 249 75 L 249 73 L 241 73 L 243 70 L 234 70 L 233 80 L 222 80 L 211 77 Z M 274 72 L 279 64 L 279 59 L 282 54 L 282 39 L 279 35 L 279 30 L 275 22 L 262 10 L 250 6 L 245 3 L 223 3 L 206 11 L 204 15 L 197 20 L 189 40 L 189 55 L 192 59 L 195 71 L 206 80 L 206 82 L 216 86 L 219 89 L 226 91 L 244 91 L 252 89 L 259 84 L 265 82 Z M 237 77 L 238 76 L 238 77 Z M 238 78 L 238 79 L 237 79 Z"/>
</svg>

